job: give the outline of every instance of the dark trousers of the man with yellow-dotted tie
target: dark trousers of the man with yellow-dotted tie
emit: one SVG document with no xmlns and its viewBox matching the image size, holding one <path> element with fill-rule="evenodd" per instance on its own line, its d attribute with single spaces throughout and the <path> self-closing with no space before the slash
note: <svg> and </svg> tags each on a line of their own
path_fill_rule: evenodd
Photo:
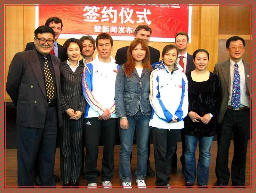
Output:
<svg viewBox="0 0 256 193">
<path fill-rule="evenodd" d="M 34 186 L 34 166 L 37 155 L 42 186 L 56 186 L 54 161 L 57 127 L 58 118 L 55 107 L 47 108 L 43 129 L 17 125 L 18 186 Z"/>
</svg>

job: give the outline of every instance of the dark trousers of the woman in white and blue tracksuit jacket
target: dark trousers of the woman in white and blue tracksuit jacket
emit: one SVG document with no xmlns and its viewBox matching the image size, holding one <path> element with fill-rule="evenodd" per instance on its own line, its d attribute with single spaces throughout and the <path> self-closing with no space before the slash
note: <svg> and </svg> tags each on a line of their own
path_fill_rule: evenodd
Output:
<svg viewBox="0 0 256 193">
<path fill-rule="evenodd" d="M 180 130 L 152 127 L 152 134 L 156 167 L 156 186 L 166 186 L 169 184 L 170 163 L 177 146 Z"/>
</svg>

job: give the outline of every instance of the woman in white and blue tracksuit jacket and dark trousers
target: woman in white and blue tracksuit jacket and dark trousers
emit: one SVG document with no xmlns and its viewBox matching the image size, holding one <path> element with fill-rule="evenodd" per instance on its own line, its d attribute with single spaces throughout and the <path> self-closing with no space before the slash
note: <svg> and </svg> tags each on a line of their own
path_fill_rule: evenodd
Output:
<svg viewBox="0 0 256 193">
<path fill-rule="evenodd" d="M 162 61 L 152 65 L 156 69 L 150 75 L 149 126 L 153 134 L 156 186 L 170 186 L 170 163 L 188 114 L 188 80 L 176 62 L 177 56 L 174 45 L 165 46 Z"/>
</svg>

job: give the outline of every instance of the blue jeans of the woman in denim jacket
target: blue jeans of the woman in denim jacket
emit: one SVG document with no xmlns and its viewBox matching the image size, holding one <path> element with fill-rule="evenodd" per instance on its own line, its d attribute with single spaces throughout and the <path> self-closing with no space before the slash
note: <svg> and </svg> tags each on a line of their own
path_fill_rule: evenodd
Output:
<svg viewBox="0 0 256 193">
<path fill-rule="evenodd" d="M 120 161 L 119 161 L 119 176 L 121 182 L 132 182 L 130 156 L 132 153 L 133 135 L 136 129 L 137 136 L 137 169 L 135 172 L 136 180 L 144 180 L 147 174 L 148 160 L 148 139 L 150 134 L 149 120 L 151 115 L 142 115 L 139 111 L 128 116 L 129 128 L 121 129 L 119 126 L 120 135 Z"/>
</svg>

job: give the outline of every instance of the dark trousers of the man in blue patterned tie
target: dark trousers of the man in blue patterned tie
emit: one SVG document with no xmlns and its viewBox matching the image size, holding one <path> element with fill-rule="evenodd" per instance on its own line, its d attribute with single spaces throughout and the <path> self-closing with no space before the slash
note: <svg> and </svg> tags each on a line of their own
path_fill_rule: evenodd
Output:
<svg viewBox="0 0 256 193">
<path fill-rule="evenodd" d="M 249 137 L 250 110 L 227 109 L 218 132 L 218 152 L 215 173 L 217 180 L 228 184 L 228 150 L 234 134 L 234 155 L 231 164 L 233 186 L 244 186 L 247 142 Z"/>
</svg>

